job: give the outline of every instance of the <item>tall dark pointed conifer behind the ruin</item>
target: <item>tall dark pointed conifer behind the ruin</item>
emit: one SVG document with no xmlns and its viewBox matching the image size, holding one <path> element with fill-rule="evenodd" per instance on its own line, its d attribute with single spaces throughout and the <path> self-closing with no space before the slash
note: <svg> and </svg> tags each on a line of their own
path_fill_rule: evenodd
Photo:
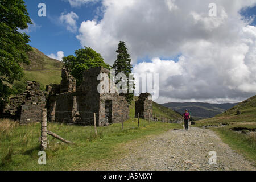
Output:
<svg viewBox="0 0 256 182">
<path fill-rule="evenodd" d="M 126 101 L 131 104 L 131 101 L 133 101 L 134 93 L 129 93 L 129 85 L 132 88 L 134 87 L 134 78 L 133 80 L 129 81 L 129 74 L 131 74 L 131 69 L 133 69 L 133 65 L 131 65 L 131 59 L 130 55 L 127 51 L 127 48 L 125 46 L 125 42 L 120 41 L 118 44 L 117 49 L 117 60 L 115 60 L 115 63 L 113 64 L 113 69 L 115 69 L 115 76 L 118 73 L 124 73 L 127 77 L 127 93 L 122 93 L 123 96 L 125 96 Z M 116 81 L 115 84 L 117 84 L 119 81 Z"/>
</svg>

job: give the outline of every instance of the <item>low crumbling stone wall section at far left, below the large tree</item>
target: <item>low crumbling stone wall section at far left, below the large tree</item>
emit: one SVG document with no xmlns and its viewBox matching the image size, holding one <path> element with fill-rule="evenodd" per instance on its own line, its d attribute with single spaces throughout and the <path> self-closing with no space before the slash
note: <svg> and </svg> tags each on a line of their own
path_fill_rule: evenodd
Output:
<svg viewBox="0 0 256 182">
<path fill-rule="evenodd" d="M 21 124 L 39 122 L 41 112 L 46 105 L 46 94 L 35 81 L 27 81 L 27 90 L 23 94 L 10 98 L 3 108 L 1 117 L 17 119 Z"/>
</svg>

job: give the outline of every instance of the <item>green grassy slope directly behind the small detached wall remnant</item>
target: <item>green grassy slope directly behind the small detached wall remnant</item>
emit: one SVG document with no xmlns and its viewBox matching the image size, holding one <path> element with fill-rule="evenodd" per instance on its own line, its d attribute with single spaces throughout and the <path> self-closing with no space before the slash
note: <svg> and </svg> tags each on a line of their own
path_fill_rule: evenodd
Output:
<svg viewBox="0 0 256 182">
<path fill-rule="evenodd" d="M 130 117 L 134 117 L 135 115 L 135 101 L 138 100 L 138 96 L 134 96 L 133 102 L 131 102 L 130 105 Z M 156 102 L 153 102 L 153 114 L 156 114 L 156 117 L 159 118 L 168 118 L 168 119 L 179 119 L 182 118 L 179 113 L 176 113 L 175 111 L 168 109 L 167 107 L 164 107 L 160 104 L 157 104 Z"/>
</svg>

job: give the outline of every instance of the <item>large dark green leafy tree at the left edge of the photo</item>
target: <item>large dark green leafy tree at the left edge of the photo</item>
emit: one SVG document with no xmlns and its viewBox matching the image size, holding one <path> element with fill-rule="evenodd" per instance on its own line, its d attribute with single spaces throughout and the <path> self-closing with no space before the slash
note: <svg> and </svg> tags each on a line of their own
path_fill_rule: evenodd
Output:
<svg viewBox="0 0 256 182">
<path fill-rule="evenodd" d="M 30 37 L 18 30 L 32 24 L 22 0 L 0 1 L 0 104 L 8 100 L 11 84 L 23 77 L 21 64 L 28 64 Z"/>
</svg>

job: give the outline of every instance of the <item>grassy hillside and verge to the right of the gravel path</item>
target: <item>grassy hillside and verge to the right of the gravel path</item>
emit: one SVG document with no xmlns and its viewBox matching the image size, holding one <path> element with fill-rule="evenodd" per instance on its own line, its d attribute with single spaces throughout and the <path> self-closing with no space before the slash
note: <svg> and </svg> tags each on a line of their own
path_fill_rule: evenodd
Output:
<svg viewBox="0 0 256 182">
<path fill-rule="evenodd" d="M 237 110 L 241 114 L 237 115 Z M 196 121 L 196 126 L 211 127 L 233 150 L 256 163 L 256 96 L 237 104 L 216 117 Z"/>
</svg>

